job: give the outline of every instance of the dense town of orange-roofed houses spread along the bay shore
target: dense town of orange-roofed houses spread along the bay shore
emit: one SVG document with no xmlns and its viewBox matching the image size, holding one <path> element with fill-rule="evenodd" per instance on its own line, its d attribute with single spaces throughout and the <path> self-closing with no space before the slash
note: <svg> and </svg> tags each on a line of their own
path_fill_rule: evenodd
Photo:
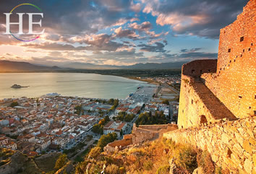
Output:
<svg viewBox="0 0 256 174">
<path fill-rule="evenodd" d="M 77 147 L 85 151 L 102 134 L 116 133 L 117 139 L 122 139 L 131 134 L 133 123 L 150 124 L 142 118 L 146 113 L 157 115 L 158 123 L 176 123 L 179 93 L 170 86 L 171 82 L 180 82 L 176 79 L 154 79 L 162 84 L 142 84 L 124 100 L 62 97 L 56 93 L 0 100 L 0 147 L 27 156 L 74 152 L 71 157 L 77 157 Z"/>
</svg>

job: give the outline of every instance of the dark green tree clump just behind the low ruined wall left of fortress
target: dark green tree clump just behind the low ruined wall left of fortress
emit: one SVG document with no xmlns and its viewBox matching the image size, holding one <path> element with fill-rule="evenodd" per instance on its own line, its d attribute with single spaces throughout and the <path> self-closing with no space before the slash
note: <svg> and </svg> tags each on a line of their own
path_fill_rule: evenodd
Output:
<svg viewBox="0 0 256 174">
<path fill-rule="evenodd" d="M 163 112 L 158 113 L 155 112 L 155 116 L 152 116 L 152 113 L 141 113 L 137 121 L 136 125 L 153 125 L 153 124 L 166 124 L 166 117 Z"/>
</svg>

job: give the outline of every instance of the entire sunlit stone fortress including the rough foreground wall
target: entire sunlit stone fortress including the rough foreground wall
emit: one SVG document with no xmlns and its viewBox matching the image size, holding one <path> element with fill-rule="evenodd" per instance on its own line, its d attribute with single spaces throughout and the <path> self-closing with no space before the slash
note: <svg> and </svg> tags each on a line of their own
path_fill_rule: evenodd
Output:
<svg viewBox="0 0 256 174">
<path fill-rule="evenodd" d="M 210 152 L 231 173 L 256 173 L 256 1 L 221 29 L 218 61 L 182 66 L 179 129 L 163 134 Z"/>
</svg>

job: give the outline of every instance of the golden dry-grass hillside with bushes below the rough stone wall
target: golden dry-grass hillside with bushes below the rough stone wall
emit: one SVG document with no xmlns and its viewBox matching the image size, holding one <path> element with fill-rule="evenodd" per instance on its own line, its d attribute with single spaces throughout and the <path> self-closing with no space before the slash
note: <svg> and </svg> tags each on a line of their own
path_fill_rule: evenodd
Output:
<svg viewBox="0 0 256 174">
<path fill-rule="evenodd" d="M 176 144 L 167 139 L 131 146 L 116 152 L 98 152 L 91 150 L 84 162 L 76 166 L 76 174 L 168 174 L 193 173 L 200 166 L 205 173 L 221 172 L 210 159 L 208 152 L 202 152 L 187 144 Z M 224 173 L 224 171 L 223 171 Z"/>
</svg>

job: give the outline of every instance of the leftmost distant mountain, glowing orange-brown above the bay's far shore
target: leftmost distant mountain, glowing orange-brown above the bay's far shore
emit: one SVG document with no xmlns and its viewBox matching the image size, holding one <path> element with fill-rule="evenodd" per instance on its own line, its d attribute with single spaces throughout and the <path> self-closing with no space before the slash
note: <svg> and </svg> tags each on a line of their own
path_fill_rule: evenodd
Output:
<svg viewBox="0 0 256 174">
<path fill-rule="evenodd" d="M 58 66 L 38 66 L 27 62 L 0 61 L 0 72 L 56 70 Z"/>
</svg>

